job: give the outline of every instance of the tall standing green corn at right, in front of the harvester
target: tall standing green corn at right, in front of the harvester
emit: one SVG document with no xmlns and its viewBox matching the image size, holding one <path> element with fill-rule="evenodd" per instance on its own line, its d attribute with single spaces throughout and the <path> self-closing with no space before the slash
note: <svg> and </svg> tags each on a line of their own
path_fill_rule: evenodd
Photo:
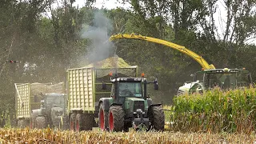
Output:
<svg viewBox="0 0 256 144">
<path fill-rule="evenodd" d="M 214 89 L 174 98 L 170 129 L 182 132 L 251 134 L 256 128 L 256 89 Z"/>
</svg>

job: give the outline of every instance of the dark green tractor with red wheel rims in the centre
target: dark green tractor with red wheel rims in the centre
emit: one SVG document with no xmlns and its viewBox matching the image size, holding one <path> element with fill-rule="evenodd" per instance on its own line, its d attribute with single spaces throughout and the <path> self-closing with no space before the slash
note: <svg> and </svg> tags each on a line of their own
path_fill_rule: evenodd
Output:
<svg viewBox="0 0 256 144">
<path fill-rule="evenodd" d="M 101 130 L 129 131 L 164 130 L 165 115 L 162 104 L 153 104 L 146 94 L 146 86 L 154 84 L 158 90 L 157 78 L 147 82 L 144 78 L 110 78 L 112 90 L 110 98 L 101 98 L 98 105 L 98 126 Z M 106 84 L 102 83 L 102 89 Z"/>
</svg>

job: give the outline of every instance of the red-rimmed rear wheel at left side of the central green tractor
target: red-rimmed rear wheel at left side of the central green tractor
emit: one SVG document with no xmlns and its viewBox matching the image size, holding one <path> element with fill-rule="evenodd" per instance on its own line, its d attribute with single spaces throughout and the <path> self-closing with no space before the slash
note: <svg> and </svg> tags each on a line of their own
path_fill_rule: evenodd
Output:
<svg viewBox="0 0 256 144">
<path fill-rule="evenodd" d="M 108 117 L 109 113 L 104 110 L 103 104 L 99 106 L 99 112 L 98 112 L 98 127 L 101 130 L 107 130 L 108 129 Z"/>
</svg>

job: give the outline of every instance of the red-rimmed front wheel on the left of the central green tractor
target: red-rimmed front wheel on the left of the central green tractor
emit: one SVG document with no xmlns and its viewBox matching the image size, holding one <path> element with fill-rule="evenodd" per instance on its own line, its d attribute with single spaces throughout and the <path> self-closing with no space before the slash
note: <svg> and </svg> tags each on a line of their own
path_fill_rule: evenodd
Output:
<svg viewBox="0 0 256 144">
<path fill-rule="evenodd" d="M 110 131 L 122 131 L 125 125 L 125 112 L 122 106 L 111 106 L 109 112 Z"/>
</svg>

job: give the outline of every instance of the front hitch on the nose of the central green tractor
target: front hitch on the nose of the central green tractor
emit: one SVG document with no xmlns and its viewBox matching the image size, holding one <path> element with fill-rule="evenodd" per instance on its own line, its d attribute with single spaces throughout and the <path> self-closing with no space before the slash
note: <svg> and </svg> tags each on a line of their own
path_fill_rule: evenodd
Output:
<svg viewBox="0 0 256 144">
<path fill-rule="evenodd" d="M 136 112 L 134 112 L 134 114 L 137 114 L 137 118 L 134 118 L 133 128 L 138 129 L 141 126 L 146 126 L 146 128 L 149 129 L 150 119 L 143 118 L 143 114 L 145 114 L 145 112 L 143 112 L 142 109 L 137 109 Z"/>
</svg>

